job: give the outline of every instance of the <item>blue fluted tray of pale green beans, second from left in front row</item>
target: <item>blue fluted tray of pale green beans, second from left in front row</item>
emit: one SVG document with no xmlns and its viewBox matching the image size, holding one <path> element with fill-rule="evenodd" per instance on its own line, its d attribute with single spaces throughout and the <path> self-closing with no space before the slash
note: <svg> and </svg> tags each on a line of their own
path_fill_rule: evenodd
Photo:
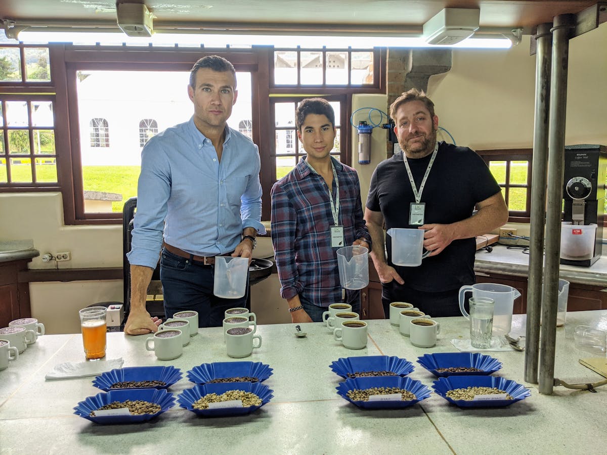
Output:
<svg viewBox="0 0 607 455">
<path fill-rule="evenodd" d="M 220 395 L 228 390 L 243 390 L 256 394 L 262 403 L 259 406 L 248 406 L 242 408 L 219 408 L 219 409 L 194 409 L 194 402 L 209 393 Z M 190 389 L 185 389 L 177 400 L 181 408 L 188 409 L 192 413 L 202 417 L 226 417 L 226 416 L 242 416 L 249 414 L 259 409 L 266 403 L 270 402 L 273 397 L 273 390 L 260 382 L 229 382 L 216 384 L 195 385 Z"/>
</svg>

